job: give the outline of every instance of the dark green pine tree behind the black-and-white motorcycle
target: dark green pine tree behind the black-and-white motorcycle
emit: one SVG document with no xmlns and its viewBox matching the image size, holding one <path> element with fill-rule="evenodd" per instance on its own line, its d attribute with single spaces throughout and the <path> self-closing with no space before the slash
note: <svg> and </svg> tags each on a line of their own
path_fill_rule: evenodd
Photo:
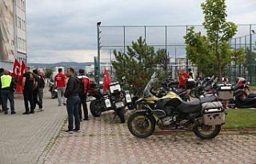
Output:
<svg viewBox="0 0 256 164">
<path fill-rule="evenodd" d="M 137 42 L 132 42 L 132 46 L 127 46 L 127 53 L 114 50 L 116 61 L 113 61 L 115 76 L 120 81 L 122 76 L 126 76 L 126 82 L 134 86 L 134 90 L 145 87 L 151 75 L 155 71 L 157 64 L 162 64 L 162 59 L 166 57 L 165 49 L 159 49 L 156 53 L 154 47 L 146 45 L 142 37 Z"/>
</svg>

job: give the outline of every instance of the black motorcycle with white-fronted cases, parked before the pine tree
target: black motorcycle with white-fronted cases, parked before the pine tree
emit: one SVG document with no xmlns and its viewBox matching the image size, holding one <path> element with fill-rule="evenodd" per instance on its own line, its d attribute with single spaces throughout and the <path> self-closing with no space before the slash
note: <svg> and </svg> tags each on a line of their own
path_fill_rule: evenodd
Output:
<svg viewBox="0 0 256 164">
<path fill-rule="evenodd" d="M 114 110 L 114 118 L 116 115 L 121 119 L 121 123 L 125 122 L 125 107 L 131 103 L 130 92 L 123 91 L 118 82 L 111 83 L 109 92 L 102 93 L 101 89 L 92 88 L 89 92 L 95 100 L 90 102 L 90 112 L 94 117 L 102 115 L 104 111 Z"/>
</svg>

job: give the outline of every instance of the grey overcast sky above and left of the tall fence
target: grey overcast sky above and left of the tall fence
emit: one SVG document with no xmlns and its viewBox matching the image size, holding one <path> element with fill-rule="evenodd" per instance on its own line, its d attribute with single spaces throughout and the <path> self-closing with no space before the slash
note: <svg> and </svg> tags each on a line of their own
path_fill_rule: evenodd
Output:
<svg viewBox="0 0 256 164">
<path fill-rule="evenodd" d="M 202 0 L 26 0 L 28 61 L 93 61 L 102 25 L 201 25 Z M 228 21 L 256 23 L 255 0 L 227 0 Z M 102 52 L 102 59 L 107 54 Z"/>
</svg>

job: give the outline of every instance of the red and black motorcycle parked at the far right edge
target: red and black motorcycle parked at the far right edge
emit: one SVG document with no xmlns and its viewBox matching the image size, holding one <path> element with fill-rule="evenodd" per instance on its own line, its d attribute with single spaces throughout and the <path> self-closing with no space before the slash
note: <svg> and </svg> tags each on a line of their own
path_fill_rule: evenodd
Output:
<svg viewBox="0 0 256 164">
<path fill-rule="evenodd" d="M 256 93 L 247 92 L 250 91 L 250 87 L 246 83 L 246 79 L 238 77 L 237 83 L 234 85 L 234 100 L 230 100 L 231 104 L 234 104 L 232 108 L 256 108 Z"/>
</svg>

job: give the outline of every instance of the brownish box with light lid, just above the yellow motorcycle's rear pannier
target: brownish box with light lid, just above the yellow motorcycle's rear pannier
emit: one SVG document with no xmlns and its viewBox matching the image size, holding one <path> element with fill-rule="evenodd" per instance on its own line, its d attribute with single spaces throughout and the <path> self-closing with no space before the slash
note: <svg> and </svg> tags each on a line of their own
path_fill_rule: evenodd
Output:
<svg viewBox="0 0 256 164">
<path fill-rule="evenodd" d="M 218 98 L 221 100 L 231 100 L 234 97 L 232 84 L 218 84 Z"/>
</svg>

